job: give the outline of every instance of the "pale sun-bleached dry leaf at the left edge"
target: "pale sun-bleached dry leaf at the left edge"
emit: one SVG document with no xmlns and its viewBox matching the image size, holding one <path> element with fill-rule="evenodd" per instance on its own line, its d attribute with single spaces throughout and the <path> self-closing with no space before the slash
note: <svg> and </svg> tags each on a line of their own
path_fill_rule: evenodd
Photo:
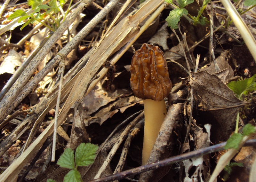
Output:
<svg viewBox="0 0 256 182">
<path fill-rule="evenodd" d="M 22 63 L 21 56 L 14 49 L 9 51 L 8 56 L 6 56 L 0 65 L 0 74 L 10 73 L 14 74 L 15 67 L 20 66 Z"/>
</svg>

